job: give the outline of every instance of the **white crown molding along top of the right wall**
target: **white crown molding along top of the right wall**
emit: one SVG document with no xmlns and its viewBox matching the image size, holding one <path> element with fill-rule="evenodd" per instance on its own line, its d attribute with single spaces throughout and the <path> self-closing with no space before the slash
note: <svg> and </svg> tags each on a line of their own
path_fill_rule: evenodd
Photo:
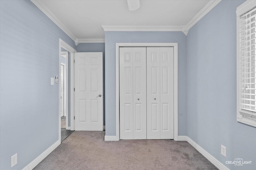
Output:
<svg viewBox="0 0 256 170">
<path fill-rule="evenodd" d="M 201 20 L 212 8 L 214 8 L 221 0 L 210 0 L 202 10 L 200 10 L 186 25 L 182 30 L 185 35 L 188 35 L 189 29 L 194 26 L 199 20 Z"/>
</svg>

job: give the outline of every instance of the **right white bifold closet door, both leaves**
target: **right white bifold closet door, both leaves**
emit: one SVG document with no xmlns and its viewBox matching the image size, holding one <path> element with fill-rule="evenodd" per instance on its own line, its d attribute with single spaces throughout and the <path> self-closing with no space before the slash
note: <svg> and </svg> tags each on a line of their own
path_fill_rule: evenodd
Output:
<svg viewBox="0 0 256 170">
<path fill-rule="evenodd" d="M 147 47 L 147 139 L 173 139 L 173 47 Z"/>
</svg>

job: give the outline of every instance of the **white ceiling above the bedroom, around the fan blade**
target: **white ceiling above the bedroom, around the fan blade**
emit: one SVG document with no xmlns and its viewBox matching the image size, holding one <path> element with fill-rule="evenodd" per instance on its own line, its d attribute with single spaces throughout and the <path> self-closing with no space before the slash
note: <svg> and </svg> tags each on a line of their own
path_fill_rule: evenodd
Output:
<svg viewBox="0 0 256 170">
<path fill-rule="evenodd" d="M 31 0 L 73 40 L 104 39 L 102 25 L 183 28 L 216 0 L 140 0 L 128 10 L 127 0 Z"/>
</svg>

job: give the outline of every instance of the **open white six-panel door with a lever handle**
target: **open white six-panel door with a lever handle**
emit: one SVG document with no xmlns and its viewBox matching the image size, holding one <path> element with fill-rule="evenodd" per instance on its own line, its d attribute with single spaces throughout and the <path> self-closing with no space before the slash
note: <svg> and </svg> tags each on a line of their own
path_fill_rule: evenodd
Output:
<svg viewBox="0 0 256 170">
<path fill-rule="evenodd" d="M 103 131 L 102 53 L 75 53 L 76 131 Z"/>
</svg>

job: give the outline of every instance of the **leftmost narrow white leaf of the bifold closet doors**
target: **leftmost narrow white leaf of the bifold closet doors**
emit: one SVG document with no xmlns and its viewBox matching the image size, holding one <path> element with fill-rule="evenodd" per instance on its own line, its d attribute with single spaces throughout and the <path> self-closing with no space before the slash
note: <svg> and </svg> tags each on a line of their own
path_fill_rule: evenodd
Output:
<svg viewBox="0 0 256 170">
<path fill-rule="evenodd" d="M 133 139 L 133 54 L 131 47 L 119 50 L 120 139 Z"/>
</svg>

